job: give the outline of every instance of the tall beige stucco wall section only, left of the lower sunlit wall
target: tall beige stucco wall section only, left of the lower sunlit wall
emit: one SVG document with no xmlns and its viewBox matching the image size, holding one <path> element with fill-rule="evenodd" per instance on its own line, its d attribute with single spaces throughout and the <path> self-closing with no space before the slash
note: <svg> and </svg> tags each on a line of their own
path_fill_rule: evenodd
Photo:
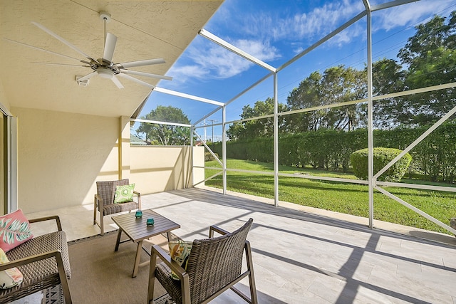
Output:
<svg viewBox="0 0 456 304">
<path fill-rule="evenodd" d="M 118 119 L 11 110 L 18 117 L 18 205 L 24 212 L 93 201 L 95 180 L 118 177 Z"/>
</svg>

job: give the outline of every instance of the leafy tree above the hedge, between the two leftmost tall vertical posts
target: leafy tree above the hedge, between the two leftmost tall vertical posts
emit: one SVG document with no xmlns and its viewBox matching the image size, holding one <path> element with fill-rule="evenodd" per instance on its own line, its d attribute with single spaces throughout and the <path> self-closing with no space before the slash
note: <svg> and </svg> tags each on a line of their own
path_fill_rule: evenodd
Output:
<svg viewBox="0 0 456 304">
<path fill-rule="evenodd" d="M 279 112 L 285 109 L 285 105 L 279 103 Z M 245 105 L 242 108 L 241 119 L 260 117 L 274 114 L 274 99 L 266 98 L 264 101 L 257 101 L 254 108 Z M 283 125 L 279 117 L 279 127 Z M 259 120 L 247 120 L 244 122 L 234 122 L 227 130 L 230 140 L 242 140 L 255 137 L 272 136 L 274 133 L 274 117 L 261 118 Z"/>
</svg>

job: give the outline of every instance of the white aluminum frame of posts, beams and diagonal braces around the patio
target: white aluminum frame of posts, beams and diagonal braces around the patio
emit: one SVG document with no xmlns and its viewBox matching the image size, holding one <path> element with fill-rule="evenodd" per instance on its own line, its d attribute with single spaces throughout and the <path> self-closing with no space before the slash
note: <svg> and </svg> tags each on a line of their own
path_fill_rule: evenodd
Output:
<svg viewBox="0 0 456 304">
<path fill-rule="evenodd" d="M 204 147 L 207 148 L 209 152 L 211 152 L 212 156 L 217 159 L 217 162 L 222 166 L 222 168 L 217 168 L 217 167 L 199 167 L 199 168 L 204 168 L 204 169 L 214 169 L 214 170 L 220 170 L 217 174 L 214 174 L 212 177 L 209 177 L 207 179 L 204 179 L 204 182 L 206 182 L 209 179 L 212 179 L 213 177 L 216 177 L 219 174 L 222 174 L 223 176 L 223 193 L 227 193 L 227 172 L 246 172 L 246 173 L 252 173 L 252 174 L 266 174 L 266 175 L 273 175 L 274 176 L 274 205 L 278 206 L 279 205 L 279 177 L 296 177 L 296 178 L 306 178 L 306 179 L 318 179 L 318 180 L 326 180 L 326 181 L 332 181 L 332 182 L 345 182 L 345 183 L 352 183 L 352 184 L 368 184 L 368 200 L 369 200 L 369 224 L 368 226 L 373 228 L 373 212 L 374 212 L 374 201 L 373 201 L 373 192 L 374 189 L 378 190 L 379 192 L 385 194 L 386 196 L 390 197 L 391 199 L 394 199 L 395 201 L 398 201 L 400 204 L 403 204 L 407 208 L 417 212 L 418 214 L 424 216 L 426 219 L 429 219 L 430 221 L 434 222 L 438 226 L 441 226 L 444 229 L 447 229 L 448 231 L 452 232 L 453 234 L 456 234 L 456 230 L 452 229 L 450 226 L 447 226 L 446 224 L 443 224 L 441 221 L 438 221 L 434 217 L 430 216 L 429 214 L 426 214 L 425 212 L 421 211 L 420 209 L 415 208 L 415 206 L 412 206 L 411 204 L 408 204 L 406 201 L 403 201 L 399 197 L 391 194 L 390 192 L 386 191 L 380 186 L 390 186 L 390 187 L 406 187 L 406 188 L 415 188 L 415 189 L 429 189 L 429 190 L 435 190 L 435 191 L 445 191 L 445 192 L 456 192 L 456 187 L 436 187 L 436 186 L 425 186 L 425 185 L 416 185 L 416 184 L 403 184 L 403 183 L 394 183 L 394 182 L 378 182 L 377 178 L 385 172 L 390 166 L 392 166 L 395 162 L 397 162 L 405 153 L 413 149 L 416 145 L 418 145 L 419 142 L 424 140 L 424 138 L 429 135 L 432 131 L 434 131 L 439 125 L 442 124 L 442 122 L 445 122 L 451 115 L 453 115 L 456 112 L 456 107 L 453 108 L 450 112 L 448 112 L 445 116 L 443 116 L 438 122 L 435 123 L 432 127 L 430 127 L 429 130 L 423 133 L 420 137 L 417 138 L 413 143 L 411 143 L 398 157 L 395 157 L 393 161 L 391 161 L 389 164 L 387 164 L 383 169 L 380 170 L 377 174 L 373 174 L 373 101 L 374 100 L 382 100 L 385 98 L 393 98 L 393 97 L 398 97 L 398 96 L 404 96 L 404 95 L 412 95 L 412 94 L 417 94 L 417 93 L 425 93 L 425 92 L 430 92 L 433 90 L 442 90 L 445 88 L 455 88 L 456 87 L 456 82 L 453 83 L 446 83 L 443 85 L 435 85 L 427 88 L 419 88 L 415 90 L 408 90 L 408 91 L 403 91 L 403 92 L 395 92 L 395 93 L 390 93 L 386 95 L 380 95 L 380 96 L 373 96 L 373 91 L 372 91 L 372 28 L 371 28 L 371 20 L 372 20 L 372 12 L 373 11 L 380 11 L 383 9 L 389 9 L 394 6 L 400 6 L 403 4 L 409 4 L 411 2 L 416 2 L 420 0 L 395 0 L 395 1 L 390 1 L 388 3 L 384 4 L 379 4 L 375 6 L 371 6 L 371 3 L 369 0 L 362 0 L 363 4 L 365 6 L 365 10 L 362 11 L 360 14 L 354 16 L 351 20 L 347 21 L 344 23 L 342 26 L 336 28 L 335 31 L 332 31 L 329 33 L 327 36 L 321 38 L 319 41 L 314 43 L 312 46 L 307 48 L 306 50 L 302 51 L 299 53 L 297 56 L 292 58 L 290 61 L 287 61 L 283 65 L 279 66 L 279 68 L 274 68 L 273 66 L 264 63 L 263 61 L 259 60 L 258 58 L 255 58 L 254 56 L 250 55 L 249 53 L 246 53 L 242 51 L 241 49 L 232 46 L 230 43 L 227 43 L 227 41 L 222 40 L 221 38 L 215 36 L 212 33 L 209 33 L 209 31 L 206 31 L 202 29 L 199 31 L 199 35 L 203 36 L 204 38 L 207 38 L 209 41 L 212 41 L 214 43 L 217 43 L 219 46 L 222 46 L 223 48 L 226 48 L 227 50 L 231 51 L 232 53 L 237 54 L 238 56 L 241 56 L 242 58 L 247 59 L 248 61 L 251 61 L 252 63 L 255 63 L 265 70 L 268 71 L 266 75 L 264 75 L 263 78 L 259 79 L 256 83 L 252 84 L 249 86 L 249 88 L 243 90 L 241 93 L 237 94 L 229 100 L 227 103 L 220 103 L 214 100 L 207 100 L 205 98 L 198 98 L 192 95 L 187 95 L 185 93 L 177 93 L 175 91 L 163 89 L 163 88 L 158 88 L 155 87 L 155 91 L 161 92 L 161 93 L 168 93 L 171 95 L 177 95 L 183 98 L 190 98 L 193 100 L 198 100 L 202 101 L 205 103 L 211 103 L 213 105 L 217 105 L 218 108 L 215 110 L 212 110 L 212 112 L 209 112 L 207 115 L 204 115 L 200 120 L 197 120 L 194 125 L 192 125 L 192 134 L 197 135 L 195 132 L 195 129 L 197 128 L 197 124 L 199 122 L 202 122 L 203 120 L 207 119 L 207 117 L 210 117 L 214 113 L 218 112 L 220 109 L 222 109 L 222 123 L 217 124 L 217 125 L 222 125 L 222 161 L 216 157 L 214 152 L 205 144 L 203 140 L 201 140 L 201 137 L 197 135 L 199 140 L 204 142 Z M 344 29 L 348 28 L 348 26 L 351 26 L 353 23 L 356 23 L 357 21 L 363 19 L 363 17 L 366 16 L 366 38 L 367 38 L 367 85 L 368 85 L 368 97 L 365 99 L 360 99 L 360 100 L 351 100 L 348 102 L 343 102 L 343 103 L 333 103 L 331 105 L 323 105 L 323 106 L 318 106 L 318 107 L 312 107 L 312 108 L 304 108 L 304 109 L 299 109 L 299 110 L 291 110 L 287 112 L 278 112 L 278 89 L 277 89 L 277 80 L 278 80 L 278 73 L 286 68 L 287 66 L 291 65 L 295 61 L 299 60 L 299 58 L 305 56 L 307 53 L 311 52 L 321 44 L 325 43 L 328 41 L 330 38 L 333 36 L 336 36 L 338 33 L 341 33 Z M 263 115 L 260 117 L 252 117 L 252 118 L 246 118 L 242 120 L 232 120 L 227 122 L 226 121 L 226 108 L 227 105 L 232 103 L 234 100 L 237 100 L 240 96 L 244 95 L 244 93 L 247 93 L 249 90 L 252 88 L 256 87 L 259 85 L 259 83 L 262 83 L 264 80 L 269 78 L 271 75 L 274 77 L 274 114 L 271 115 Z M 294 113 L 299 113 L 299 112 L 309 112 L 309 111 L 314 111 L 314 110 L 319 110 L 319 109 L 326 109 L 326 108 L 336 108 L 336 107 L 342 107 L 345 105 L 353 105 L 357 103 L 367 103 L 368 104 L 368 180 L 367 181 L 362 181 L 362 180 L 354 180 L 354 179 L 343 179 L 343 178 L 333 178 L 333 177 L 317 177 L 313 176 L 311 174 L 284 174 L 279 172 L 279 123 L 278 123 L 278 118 L 279 116 L 282 115 L 291 115 Z M 274 117 L 274 173 L 271 172 L 259 172 L 259 171 L 252 171 L 252 170 L 242 170 L 242 169 L 227 169 L 227 161 L 226 161 L 226 126 L 229 125 L 230 123 L 234 122 L 246 122 L 249 120 L 258 120 L 258 119 L 263 119 L 263 118 L 269 118 L 269 117 Z M 140 120 L 135 120 L 135 121 L 140 121 Z M 169 123 L 167 123 L 169 124 Z M 204 126 L 205 127 L 205 126 Z M 194 184 L 195 186 L 195 184 Z"/>
</svg>

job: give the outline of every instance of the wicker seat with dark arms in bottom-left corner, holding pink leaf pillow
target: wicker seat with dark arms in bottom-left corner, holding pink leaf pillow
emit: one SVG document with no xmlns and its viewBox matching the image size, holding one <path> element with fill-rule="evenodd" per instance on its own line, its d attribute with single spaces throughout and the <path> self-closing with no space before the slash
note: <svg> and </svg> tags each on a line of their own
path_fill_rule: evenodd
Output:
<svg viewBox="0 0 456 304">
<path fill-rule="evenodd" d="M 17 267 L 24 281 L 15 287 L 0 289 L 0 303 L 9 303 L 41 290 L 60 285 L 66 304 L 71 304 L 68 278 L 71 277 L 68 243 L 58 216 L 31 219 L 30 223 L 55 220 L 58 231 L 36 236 L 6 252 L 9 263 L 0 265 L 0 271 Z"/>
</svg>

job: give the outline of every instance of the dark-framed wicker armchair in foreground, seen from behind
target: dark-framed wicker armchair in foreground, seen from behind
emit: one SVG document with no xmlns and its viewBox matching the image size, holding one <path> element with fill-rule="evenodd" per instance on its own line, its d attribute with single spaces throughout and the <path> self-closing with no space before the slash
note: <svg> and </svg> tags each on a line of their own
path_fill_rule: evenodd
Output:
<svg viewBox="0 0 456 304">
<path fill-rule="evenodd" d="M 258 303 L 254 268 L 247 234 L 253 219 L 229 233 L 217 226 L 209 229 L 209 239 L 195 240 L 187 263 L 187 271 L 173 261 L 160 246 L 152 246 L 150 256 L 149 291 L 147 303 L 153 303 L 155 278 L 167 290 L 175 303 L 208 303 L 231 288 L 248 303 Z M 222 236 L 214 238 L 214 231 Z M 247 270 L 242 273 L 243 251 Z M 162 263 L 157 264 L 157 256 Z M 171 277 L 171 269 L 180 281 Z M 250 298 L 233 285 L 249 276 Z"/>
</svg>

